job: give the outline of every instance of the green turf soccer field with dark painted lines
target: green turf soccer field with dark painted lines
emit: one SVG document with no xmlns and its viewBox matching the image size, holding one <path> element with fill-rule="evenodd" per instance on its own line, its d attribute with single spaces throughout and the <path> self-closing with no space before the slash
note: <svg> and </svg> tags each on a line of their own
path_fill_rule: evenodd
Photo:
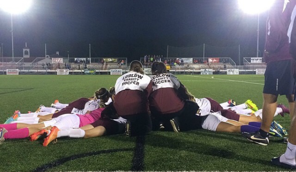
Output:
<svg viewBox="0 0 296 172">
<path fill-rule="evenodd" d="M 214 78 L 211 78 L 214 76 Z M 218 102 L 252 99 L 262 106 L 261 75 L 178 75 L 196 97 Z M 18 75 L 0 76 L 0 122 L 15 110 L 35 111 L 55 99 L 68 103 L 90 97 L 100 87 L 111 87 L 118 76 Z M 287 105 L 284 96 L 279 103 Z M 289 128 L 288 115 L 275 118 Z M 0 172 L 51 171 L 286 171 L 270 159 L 286 150 L 280 139 L 268 146 L 250 143 L 240 134 L 205 130 L 184 133 L 153 132 L 138 138 L 124 135 L 91 139 L 59 138 L 56 144 L 42 141 L 6 140 L 0 145 Z"/>
</svg>

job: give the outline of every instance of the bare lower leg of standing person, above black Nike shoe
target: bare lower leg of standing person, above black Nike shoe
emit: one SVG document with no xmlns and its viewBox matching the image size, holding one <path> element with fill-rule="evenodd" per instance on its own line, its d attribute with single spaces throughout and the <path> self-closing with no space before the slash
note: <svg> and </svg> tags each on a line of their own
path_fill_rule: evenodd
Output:
<svg viewBox="0 0 296 172">
<path fill-rule="evenodd" d="M 277 106 L 277 95 L 263 93 L 263 110 L 262 110 L 262 124 L 261 130 L 269 132 L 270 124 L 273 120 L 274 113 Z"/>
</svg>

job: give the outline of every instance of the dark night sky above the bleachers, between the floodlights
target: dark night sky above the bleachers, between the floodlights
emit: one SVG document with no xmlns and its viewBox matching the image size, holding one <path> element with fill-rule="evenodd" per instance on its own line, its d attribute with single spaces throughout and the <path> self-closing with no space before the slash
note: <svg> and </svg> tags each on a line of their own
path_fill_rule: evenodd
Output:
<svg viewBox="0 0 296 172">
<path fill-rule="evenodd" d="M 259 49 L 265 42 L 267 12 L 260 15 Z M 256 57 L 257 15 L 237 0 L 34 0 L 13 16 L 15 57 L 27 42 L 31 56 L 166 57 L 167 45 L 241 45 L 242 57 Z M 10 14 L 0 11 L 0 43 L 11 56 Z M 262 54 L 262 53 L 261 53 Z"/>
</svg>

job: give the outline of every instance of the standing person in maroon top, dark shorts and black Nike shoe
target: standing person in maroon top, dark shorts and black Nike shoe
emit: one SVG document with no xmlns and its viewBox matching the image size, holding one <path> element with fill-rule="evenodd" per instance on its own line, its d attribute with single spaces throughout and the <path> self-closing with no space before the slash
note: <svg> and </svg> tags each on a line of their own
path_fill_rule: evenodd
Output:
<svg viewBox="0 0 296 172">
<path fill-rule="evenodd" d="M 266 59 L 265 82 L 263 88 L 262 125 L 259 132 L 243 133 L 251 142 L 267 145 L 268 131 L 277 106 L 278 95 L 286 95 L 289 102 L 291 118 L 294 112 L 293 57 L 289 52 L 290 25 L 294 0 L 276 0 L 269 10 L 266 23 L 266 42 L 264 58 Z M 288 3 L 286 3 L 288 2 Z"/>
</svg>

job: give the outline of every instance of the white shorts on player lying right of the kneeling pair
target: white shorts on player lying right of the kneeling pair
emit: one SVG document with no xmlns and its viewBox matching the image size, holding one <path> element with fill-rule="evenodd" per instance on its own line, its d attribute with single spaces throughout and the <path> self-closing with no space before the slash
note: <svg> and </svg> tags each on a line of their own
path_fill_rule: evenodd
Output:
<svg viewBox="0 0 296 172">
<path fill-rule="evenodd" d="M 220 122 L 226 122 L 227 120 L 229 119 L 220 114 L 212 113 L 209 114 L 208 117 L 204 120 L 201 127 L 205 130 L 216 131 Z"/>
</svg>

